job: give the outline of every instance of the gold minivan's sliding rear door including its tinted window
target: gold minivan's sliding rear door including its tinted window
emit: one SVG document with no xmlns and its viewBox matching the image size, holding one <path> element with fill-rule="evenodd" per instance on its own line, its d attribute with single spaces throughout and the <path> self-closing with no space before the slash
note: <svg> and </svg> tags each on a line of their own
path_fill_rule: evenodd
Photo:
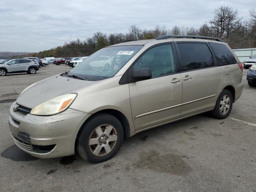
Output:
<svg viewBox="0 0 256 192">
<path fill-rule="evenodd" d="M 182 78 L 181 116 L 209 110 L 215 105 L 222 71 L 207 42 L 177 42 Z"/>
</svg>

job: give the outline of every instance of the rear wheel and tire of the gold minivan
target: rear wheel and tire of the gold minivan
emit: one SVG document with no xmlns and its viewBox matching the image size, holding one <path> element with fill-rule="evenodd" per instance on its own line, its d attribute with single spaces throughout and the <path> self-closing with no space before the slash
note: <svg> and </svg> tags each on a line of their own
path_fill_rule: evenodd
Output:
<svg viewBox="0 0 256 192">
<path fill-rule="evenodd" d="M 226 100 L 225 100 L 224 96 L 226 96 Z M 228 98 L 229 98 L 229 100 L 228 100 Z M 223 102 L 223 101 L 225 101 L 225 102 Z M 212 112 L 211 112 L 211 115 L 212 115 L 212 117 L 214 117 L 216 119 L 224 119 L 230 114 L 230 112 L 232 110 L 232 106 L 233 106 L 233 96 L 229 90 L 224 89 L 220 93 L 220 95 L 216 101 L 214 110 L 212 110 Z"/>
</svg>

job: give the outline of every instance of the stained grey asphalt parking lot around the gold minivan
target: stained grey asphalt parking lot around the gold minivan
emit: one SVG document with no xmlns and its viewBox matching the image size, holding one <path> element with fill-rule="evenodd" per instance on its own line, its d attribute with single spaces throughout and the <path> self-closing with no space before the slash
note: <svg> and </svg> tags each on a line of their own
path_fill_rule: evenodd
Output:
<svg viewBox="0 0 256 192">
<path fill-rule="evenodd" d="M 34 158 L 10 136 L 9 108 L 20 92 L 64 71 L 64 65 L 49 65 L 33 75 L 0 78 L 1 192 L 256 192 L 256 88 L 248 86 L 247 70 L 242 96 L 228 118 L 200 114 L 141 132 L 99 164 L 79 156 Z"/>
</svg>

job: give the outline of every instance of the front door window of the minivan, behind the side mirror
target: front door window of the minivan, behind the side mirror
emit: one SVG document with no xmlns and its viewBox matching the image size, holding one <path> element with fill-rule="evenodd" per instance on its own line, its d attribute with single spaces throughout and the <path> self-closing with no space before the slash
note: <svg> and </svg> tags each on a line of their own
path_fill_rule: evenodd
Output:
<svg viewBox="0 0 256 192">
<path fill-rule="evenodd" d="M 150 68 L 152 78 L 175 73 L 176 68 L 171 44 L 156 46 L 148 50 L 134 64 L 133 68 L 134 70 Z"/>
</svg>

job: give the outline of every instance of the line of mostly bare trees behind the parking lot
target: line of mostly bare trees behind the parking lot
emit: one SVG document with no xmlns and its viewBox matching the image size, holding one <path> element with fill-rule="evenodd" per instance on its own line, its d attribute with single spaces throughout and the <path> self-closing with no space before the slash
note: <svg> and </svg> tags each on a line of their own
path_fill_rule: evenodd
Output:
<svg viewBox="0 0 256 192">
<path fill-rule="evenodd" d="M 256 11 L 250 10 L 250 19 L 243 20 L 237 9 L 230 6 L 220 6 L 214 10 L 213 18 L 199 28 L 173 26 L 168 29 L 166 26 L 156 26 L 154 29 L 141 29 L 139 26 L 132 25 L 126 33 L 107 35 L 103 32 L 95 32 L 92 37 L 86 40 L 77 39 L 69 43 L 65 42 L 63 46 L 50 50 L 12 56 L 12 58 L 89 56 L 101 48 L 121 43 L 124 40 L 155 39 L 166 34 L 211 36 L 223 39 L 232 49 L 254 48 L 256 47 Z"/>
</svg>

